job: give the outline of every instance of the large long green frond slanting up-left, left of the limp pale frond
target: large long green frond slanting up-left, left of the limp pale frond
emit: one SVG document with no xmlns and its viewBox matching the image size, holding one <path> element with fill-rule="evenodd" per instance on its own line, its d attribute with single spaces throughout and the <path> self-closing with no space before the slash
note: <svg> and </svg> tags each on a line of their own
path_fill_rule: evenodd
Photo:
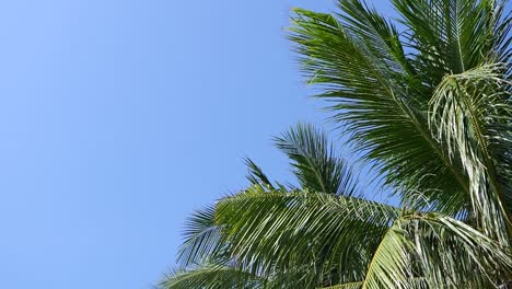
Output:
<svg viewBox="0 0 512 289">
<path fill-rule="evenodd" d="M 467 208 L 467 176 L 430 132 L 431 89 L 408 63 L 398 32 L 359 1 L 339 3 L 342 18 L 296 10 L 291 28 L 303 71 L 325 89 L 318 96 L 336 103 L 335 118 L 404 198 L 419 192 L 447 213 Z"/>
</svg>

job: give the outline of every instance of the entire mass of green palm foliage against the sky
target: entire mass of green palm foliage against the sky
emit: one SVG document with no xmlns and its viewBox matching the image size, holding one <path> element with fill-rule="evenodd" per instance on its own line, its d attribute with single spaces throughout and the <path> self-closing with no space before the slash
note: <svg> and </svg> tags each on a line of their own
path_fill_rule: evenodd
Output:
<svg viewBox="0 0 512 289">
<path fill-rule="evenodd" d="M 358 0 L 295 10 L 290 38 L 334 119 L 397 207 L 368 199 L 326 137 L 276 143 L 299 187 L 252 186 L 196 212 L 163 288 L 505 288 L 512 280 L 507 1 Z M 397 28 L 399 25 L 399 28 Z M 366 197 L 366 198 L 365 198 Z"/>
</svg>

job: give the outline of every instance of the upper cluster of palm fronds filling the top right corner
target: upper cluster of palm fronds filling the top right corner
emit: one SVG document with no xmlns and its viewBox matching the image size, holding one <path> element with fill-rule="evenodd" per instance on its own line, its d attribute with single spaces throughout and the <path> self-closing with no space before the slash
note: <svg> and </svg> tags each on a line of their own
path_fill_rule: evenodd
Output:
<svg viewBox="0 0 512 289">
<path fill-rule="evenodd" d="M 357 0 L 339 1 L 335 14 L 295 10 L 290 37 L 302 70 L 403 199 L 420 192 L 442 212 L 470 211 L 507 242 L 500 233 L 510 231 L 512 208 L 505 2 L 393 3 L 402 34 Z M 501 217 L 486 219 L 488 209 Z"/>
</svg>

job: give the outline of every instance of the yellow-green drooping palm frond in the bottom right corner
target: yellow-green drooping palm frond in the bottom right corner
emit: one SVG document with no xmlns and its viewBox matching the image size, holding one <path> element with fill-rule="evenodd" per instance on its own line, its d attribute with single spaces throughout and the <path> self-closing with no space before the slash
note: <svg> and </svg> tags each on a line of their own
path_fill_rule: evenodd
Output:
<svg viewBox="0 0 512 289">
<path fill-rule="evenodd" d="M 446 216 L 405 211 L 375 250 L 364 280 L 345 288 L 498 288 L 512 278 L 507 247 Z"/>
</svg>

